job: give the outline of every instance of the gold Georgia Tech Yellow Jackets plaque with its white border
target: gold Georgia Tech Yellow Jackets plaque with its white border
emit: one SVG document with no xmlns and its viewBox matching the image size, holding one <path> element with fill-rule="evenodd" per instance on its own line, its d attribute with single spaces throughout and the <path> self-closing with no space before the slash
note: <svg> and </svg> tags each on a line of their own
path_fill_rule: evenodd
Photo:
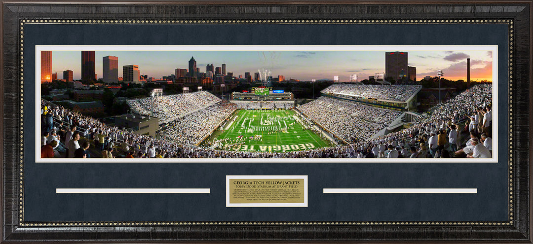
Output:
<svg viewBox="0 0 533 244">
<path fill-rule="evenodd" d="M 227 207 L 307 207 L 307 175 L 227 175 Z"/>
</svg>

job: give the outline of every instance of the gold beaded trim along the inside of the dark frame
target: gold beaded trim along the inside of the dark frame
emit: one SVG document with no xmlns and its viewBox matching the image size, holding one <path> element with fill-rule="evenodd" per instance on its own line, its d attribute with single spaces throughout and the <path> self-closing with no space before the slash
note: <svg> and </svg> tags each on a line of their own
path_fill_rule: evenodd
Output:
<svg viewBox="0 0 533 244">
<path fill-rule="evenodd" d="M 462 222 L 440 222 L 440 221 L 403 221 L 403 222 L 300 222 L 300 221 L 285 221 L 285 222 L 262 222 L 262 221 L 244 221 L 244 222 L 191 222 L 191 221 L 166 221 L 166 222 L 24 222 L 24 25 L 25 24 L 420 24 L 420 23 L 436 23 L 436 24 L 459 24 L 459 23 L 502 23 L 508 25 L 508 115 L 509 115 L 509 161 L 508 161 L 508 221 L 492 222 L 492 221 L 462 221 Z M 99 19 L 21 19 L 20 20 L 20 165 L 19 165 L 19 225 L 20 226 L 194 226 L 194 225 L 426 225 L 426 226 L 440 226 L 440 225 L 512 225 L 513 224 L 513 20 L 512 19 L 410 19 L 410 20 L 356 20 L 356 19 L 313 19 L 313 20 L 99 20 Z"/>
</svg>

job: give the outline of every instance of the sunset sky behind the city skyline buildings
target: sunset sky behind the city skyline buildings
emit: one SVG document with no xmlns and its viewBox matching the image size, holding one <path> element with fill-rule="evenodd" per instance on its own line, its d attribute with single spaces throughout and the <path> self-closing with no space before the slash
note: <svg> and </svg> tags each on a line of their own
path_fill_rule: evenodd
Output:
<svg viewBox="0 0 533 244">
<path fill-rule="evenodd" d="M 401 52 L 394 50 L 391 52 Z M 408 65 L 417 69 L 417 80 L 427 75 L 434 77 L 437 70 L 445 73 L 443 78 L 466 80 L 466 58 L 471 58 L 471 80 L 492 81 L 492 52 L 490 51 L 408 51 Z M 54 51 L 52 73 L 72 70 L 74 79 L 81 78 L 81 52 Z M 141 74 L 160 79 L 173 74 L 175 69 L 189 69 L 188 61 L 194 56 L 200 72 L 206 72 L 206 66 L 222 67 L 235 77 L 245 72 L 252 74 L 259 69 L 271 70 L 272 77 L 278 75 L 286 79 L 308 81 L 311 79 L 349 81 L 352 74 L 359 80 L 368 79 L 375 73 L 385 72 L 384 51 L 313 51 L 313 52 L 156 52 L 156 51 L 106 51 L 95 52 L 95 73 L 102 73 L 104 56 L 118 57 L 118 76 L 123 77 L 120 66 L 139 65 Z M 189 71 L 189 70 L 188 70 Z M 102 75 L 99 75 L 102 77 Z"/>
</svg>

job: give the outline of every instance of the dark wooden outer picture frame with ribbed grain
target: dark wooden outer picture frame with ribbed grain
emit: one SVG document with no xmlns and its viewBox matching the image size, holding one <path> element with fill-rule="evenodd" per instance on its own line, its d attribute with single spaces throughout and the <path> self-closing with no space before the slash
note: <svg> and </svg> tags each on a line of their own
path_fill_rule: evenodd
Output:
<svg viewBox="0 0 533 244">
<path fill-rule="evenodd" d="M 198 241 L 345 241 L 345 242 L 514 242 L 532 243 L 531 235 L 531 106 L 530 94 L 533 82 L 531 69 L 533 1 L 454 1 L 424 2 L 124 2 L 106 4 L 100 2 L 8 2 L 2 1 L 2 41 L 0 51 L 3 60 L 0 77 L 2 82 L 2 242 L 198 242 Z M 408 16 L 405 13 L 409 13 Z M 224 224 L 201 223 L 185 225 L 122 226 L 108 223 L 85 226 L 82 224 L 54 224 L 43 226 L 25 224 L 20 221 L 19 193 L 21 180 L 19 172 L 19 97 L 20 83 L 20 31 L 21 20 L 25 19 L 151 19 L 151 20 L 320 20 L 337 21 L 359 19 L 379 21 L 380 19 L 420 20 L 508 19 L 513 23 L 514 111 L 511 117 L 514 127 L 511 156 L 511 197 L 514 207 L 510 212 L 510 223 L 448 223 L 432 222 L 384 224 L 368 222 L 361 225 L 328 223 L 253 224 L 224 222 Z M 511 105 L 511 106 L 512 106 Z M 20 181 L 20 183 L 19 183 Z M 128 224 L 129 225 L 129 224 Z"/>
</svg>

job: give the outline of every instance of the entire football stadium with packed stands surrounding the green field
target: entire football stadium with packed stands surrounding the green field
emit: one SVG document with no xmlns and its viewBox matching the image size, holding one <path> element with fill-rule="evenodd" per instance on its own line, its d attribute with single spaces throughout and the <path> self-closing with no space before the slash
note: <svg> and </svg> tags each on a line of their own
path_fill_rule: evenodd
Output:
<svg viewBox="0 0 533 244">
<path fill-rule="evenodd" d="M 130 112 L 112 123 L 42 99 L 42 157 L 79 157 L 79 148 L 107 158 L 465 157 L 477 145 L 490 157 L 491 83 L 417 111 L 421 90 L 332 83 L 303 104 L 264 86 L 227 99 L 155 90 L 128 99 Z"/>
</svg>

